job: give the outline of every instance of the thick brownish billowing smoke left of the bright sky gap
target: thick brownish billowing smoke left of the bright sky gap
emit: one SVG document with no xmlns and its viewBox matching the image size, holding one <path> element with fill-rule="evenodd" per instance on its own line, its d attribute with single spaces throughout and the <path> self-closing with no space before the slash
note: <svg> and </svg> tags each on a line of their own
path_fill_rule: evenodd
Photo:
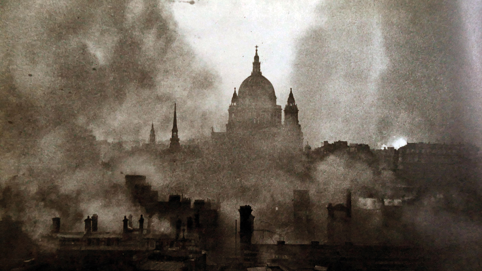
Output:
<svg viewBox="0 0 482 271">
<path fill-rule="evenodd" d="M 0 209 L 30 237 L 56 216 L 63 230 L 81 230 L 97 213 L 99 230 L 115 231 L 142 211 L 117 167 L 100 163 L 94 136 L 138 139 L 155 122 L 162 137 L 176 101 L 180 136 L 209 132 L 218 78 L 177 32 L 169 5 L 2 3 Z"/>
</svg>

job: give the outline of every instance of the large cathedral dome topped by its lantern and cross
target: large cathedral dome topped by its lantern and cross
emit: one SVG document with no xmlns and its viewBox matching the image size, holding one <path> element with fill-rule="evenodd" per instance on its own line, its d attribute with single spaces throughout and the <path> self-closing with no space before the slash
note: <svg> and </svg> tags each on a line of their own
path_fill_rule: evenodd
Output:
<svg viewBox="0 0 482 271">
<path fill-rule="evenodd" d="M 238 90 L 239 103 L 261 107 L 276 106 L 276 94 L 271 82 L 261 75 L 258 48 L 254 55 L 253 72 L 246 78 Z"/>
</svg>

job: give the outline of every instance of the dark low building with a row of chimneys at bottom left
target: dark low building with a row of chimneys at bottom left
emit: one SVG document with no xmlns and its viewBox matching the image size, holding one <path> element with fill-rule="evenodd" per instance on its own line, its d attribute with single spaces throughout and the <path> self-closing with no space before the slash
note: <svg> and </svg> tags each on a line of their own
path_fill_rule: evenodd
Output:
<svg viewBox="0 0 482 271">
<path fill-rule="evenodd" d="M 60 218 L 52 219 L 52 231 L 39 241 L 42 251 L 54 255 L 48 270 L 125 270 L 126 267 L 131 267 L 130 270 L 132 267 L 134 270 L 166 267 L 177 267 L 179 271 L 206 270 L 206 254 L 195 240 L 174 240 L 165 234 L 153 234 L 143 229 L 142 215 L 139 228 L 130 228 L 127 217 L 119 221 L 123 222 L 122 233 L 97 231 L 98 217 L 92 217 L 95 218 L 84 220 L 83 232 L 63 231 Z"/>
</svg>

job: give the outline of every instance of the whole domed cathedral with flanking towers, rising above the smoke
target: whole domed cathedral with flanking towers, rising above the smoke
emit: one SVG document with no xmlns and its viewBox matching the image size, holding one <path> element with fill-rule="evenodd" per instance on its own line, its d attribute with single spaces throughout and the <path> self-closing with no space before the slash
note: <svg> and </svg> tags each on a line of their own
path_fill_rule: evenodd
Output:
<svg viewBox="0 0 482 271">
<path fill-rule="evenodd" d="M 214 132 L 213 129 L 211 138 L 219 144 L 264 142 L 269 146 L 302 150 L 303 133 L 293 91 L 290 91 L 284 108 L 282 123 L 282 108 L 276 103 L 274 87 L 262 75 L 260 66 L 256 46 L 251 75 L 241 83 L 238 93 L 234 89 L 226 132 Z"/>
</svg>

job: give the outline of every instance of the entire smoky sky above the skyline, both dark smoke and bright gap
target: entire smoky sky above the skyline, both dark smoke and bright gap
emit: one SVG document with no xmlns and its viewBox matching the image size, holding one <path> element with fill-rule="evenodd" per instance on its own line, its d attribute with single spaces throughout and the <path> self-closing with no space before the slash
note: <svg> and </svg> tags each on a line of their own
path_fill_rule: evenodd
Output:
<svg viewBox="0 0 482 271">
<path fill-rule="evenodd" d="M 98 139 L 147 140 L 154 122 L 157 138 L 168 139 L 174 102 L 181 140 L 211 126 L 224 131 L 233 88 L 250 75 L 258 45 L 278 104 L 293 87 L 314 146 L 482 141 L 480 0 L 2 7 L 5 137 L 87 129 Z"/>
</svg>

